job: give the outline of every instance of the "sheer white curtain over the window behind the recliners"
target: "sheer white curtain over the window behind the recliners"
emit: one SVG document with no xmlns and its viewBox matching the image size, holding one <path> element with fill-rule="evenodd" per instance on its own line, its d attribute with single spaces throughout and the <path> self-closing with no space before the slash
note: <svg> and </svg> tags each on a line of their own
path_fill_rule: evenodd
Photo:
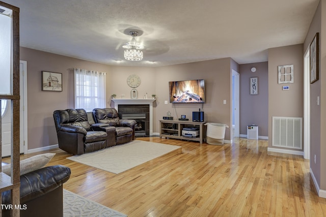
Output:
<svg viewBox="0 0 326 217">
<path fill-rule="evenodd" d="M 75 108 L 105 108 L 106 73 L 74 69 Z"/>
</svg>

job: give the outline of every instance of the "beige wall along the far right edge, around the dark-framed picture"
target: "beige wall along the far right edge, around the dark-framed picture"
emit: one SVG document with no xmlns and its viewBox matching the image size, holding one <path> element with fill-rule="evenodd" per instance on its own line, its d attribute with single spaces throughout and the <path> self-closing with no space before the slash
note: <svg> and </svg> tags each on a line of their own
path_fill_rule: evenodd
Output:
<svg viewBox="0 0 326 217">
<path fill-rule="evenodd" d="M 326 193 L 326 0 L 321 0 L 307 33 L 304 50 L 307 50 L 316 33 L 319 33 L 319 80 L 310 85 L 310 169 L 317 182 L 318 194 Z M 316 103 L 320 96 L 320 105 Z M 316 163 L 314 162 L 316 156 Z"/>
</svg>

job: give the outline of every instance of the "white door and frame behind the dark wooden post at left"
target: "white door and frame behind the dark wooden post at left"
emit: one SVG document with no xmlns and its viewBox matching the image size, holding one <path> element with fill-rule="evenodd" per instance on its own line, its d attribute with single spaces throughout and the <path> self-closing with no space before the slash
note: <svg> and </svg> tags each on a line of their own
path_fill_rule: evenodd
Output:
<svg viewBox="0 0 326 217">
<path fill-rule="evenodd" d="M 27 152 L 27 82 L 26 82 L 27 62 L 20 61 L 20 153 Z M 4 106 L 4 107 L 3 107 Z M 2 156 L 11 155 L 11 101 L 2 102 Z M 24 143 L 25 149 L 24 150 Z"/>
</svg>

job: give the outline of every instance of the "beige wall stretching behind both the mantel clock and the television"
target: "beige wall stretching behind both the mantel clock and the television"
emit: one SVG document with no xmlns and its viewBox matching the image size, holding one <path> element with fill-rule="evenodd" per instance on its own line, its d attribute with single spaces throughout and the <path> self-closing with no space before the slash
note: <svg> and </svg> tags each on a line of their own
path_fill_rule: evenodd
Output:
<svg viewBox="0 0 326 217">
<path fill-rule="evenodd" d="M 202 109 L 205 112 L 205 121 L 225 123 L 230 126 L 231 115 L 231 64 L 237 69 L 237 64 L 231 63 L 231 58 L 200 61 L 196 63 L 180 64 L 167 67 L 111 67 L 112 81 L 110 88 L 112 94 L 117 94 L 121 98 L 124 94 L 130 98 L 131 87 L 126 83 L 126 79 L 131 74 L 141 77 L 142 83 L 137 87 L 139 98 L 143 98 L 146 92 L 150 97 L 157 95 L 153 111 L 153 132 L 159 133 L 159 119 L 166 116 L 170 111 L 175 119 L 181 114 L 192 119 L 192 112 Z M 169 100 L 169 81 L 179 81 L 187 79 L 205 79 L 206 103 L 202 104 L 172 104 Z M 110 94 L 111 95 L 111 94 Z M 165 101 L 168 104 L 165 104 Z M 227 100 L 227 104 L 223 104 Z M 111 107 L 114 103 L 111 103 Z M 226 139 L 230 140 L 230 130 L 226 131 Z"/>
</svg>

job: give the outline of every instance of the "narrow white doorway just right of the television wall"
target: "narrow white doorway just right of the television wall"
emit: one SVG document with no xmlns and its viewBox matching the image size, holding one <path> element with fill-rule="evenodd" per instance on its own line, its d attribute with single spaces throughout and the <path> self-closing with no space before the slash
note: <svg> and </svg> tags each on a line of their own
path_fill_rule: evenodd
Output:
<svg viewBox="0 0 326 217">
<path fill-rule="evenodd" d="M 232 138 L 240 134 L 240 74 L 232 70 Z"/>
</svg>

